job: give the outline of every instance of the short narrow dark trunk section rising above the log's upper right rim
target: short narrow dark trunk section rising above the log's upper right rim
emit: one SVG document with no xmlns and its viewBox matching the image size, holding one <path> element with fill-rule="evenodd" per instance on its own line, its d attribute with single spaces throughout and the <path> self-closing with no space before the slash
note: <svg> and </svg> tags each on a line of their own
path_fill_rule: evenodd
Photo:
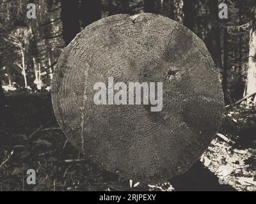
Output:
<svg viewBox="0 0 256 204">
<path fill-rule="evenodd" d="M 183 0 L 183 24 L 191 31 L 195 31 L 195 12 L 194 12 L 194 0 Z"/>
</svg>

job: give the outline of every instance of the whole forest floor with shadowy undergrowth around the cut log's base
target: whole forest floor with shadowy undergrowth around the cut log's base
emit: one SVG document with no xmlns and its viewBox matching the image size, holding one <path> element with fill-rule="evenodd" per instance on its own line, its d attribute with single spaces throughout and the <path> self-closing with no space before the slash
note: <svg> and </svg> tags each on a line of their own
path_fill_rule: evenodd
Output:
<svg viewBox="0 0 256 204">
<path fill-rule="evenodd" d="M 220 133 L 191 170 L 148 186 L 102 170 L 75 150 L 54 117 L 49 93 L 9 94 L 0 115 L 0 191 L 256 191 L 252 133 L 256 106 L 231 108 Z M 241 136 L 250 144 L 244 144 Z M 242 145 L 241 145 L 242 144 Z M 36 170 L 36 185 L 26 170 Z"/>
</svg>

